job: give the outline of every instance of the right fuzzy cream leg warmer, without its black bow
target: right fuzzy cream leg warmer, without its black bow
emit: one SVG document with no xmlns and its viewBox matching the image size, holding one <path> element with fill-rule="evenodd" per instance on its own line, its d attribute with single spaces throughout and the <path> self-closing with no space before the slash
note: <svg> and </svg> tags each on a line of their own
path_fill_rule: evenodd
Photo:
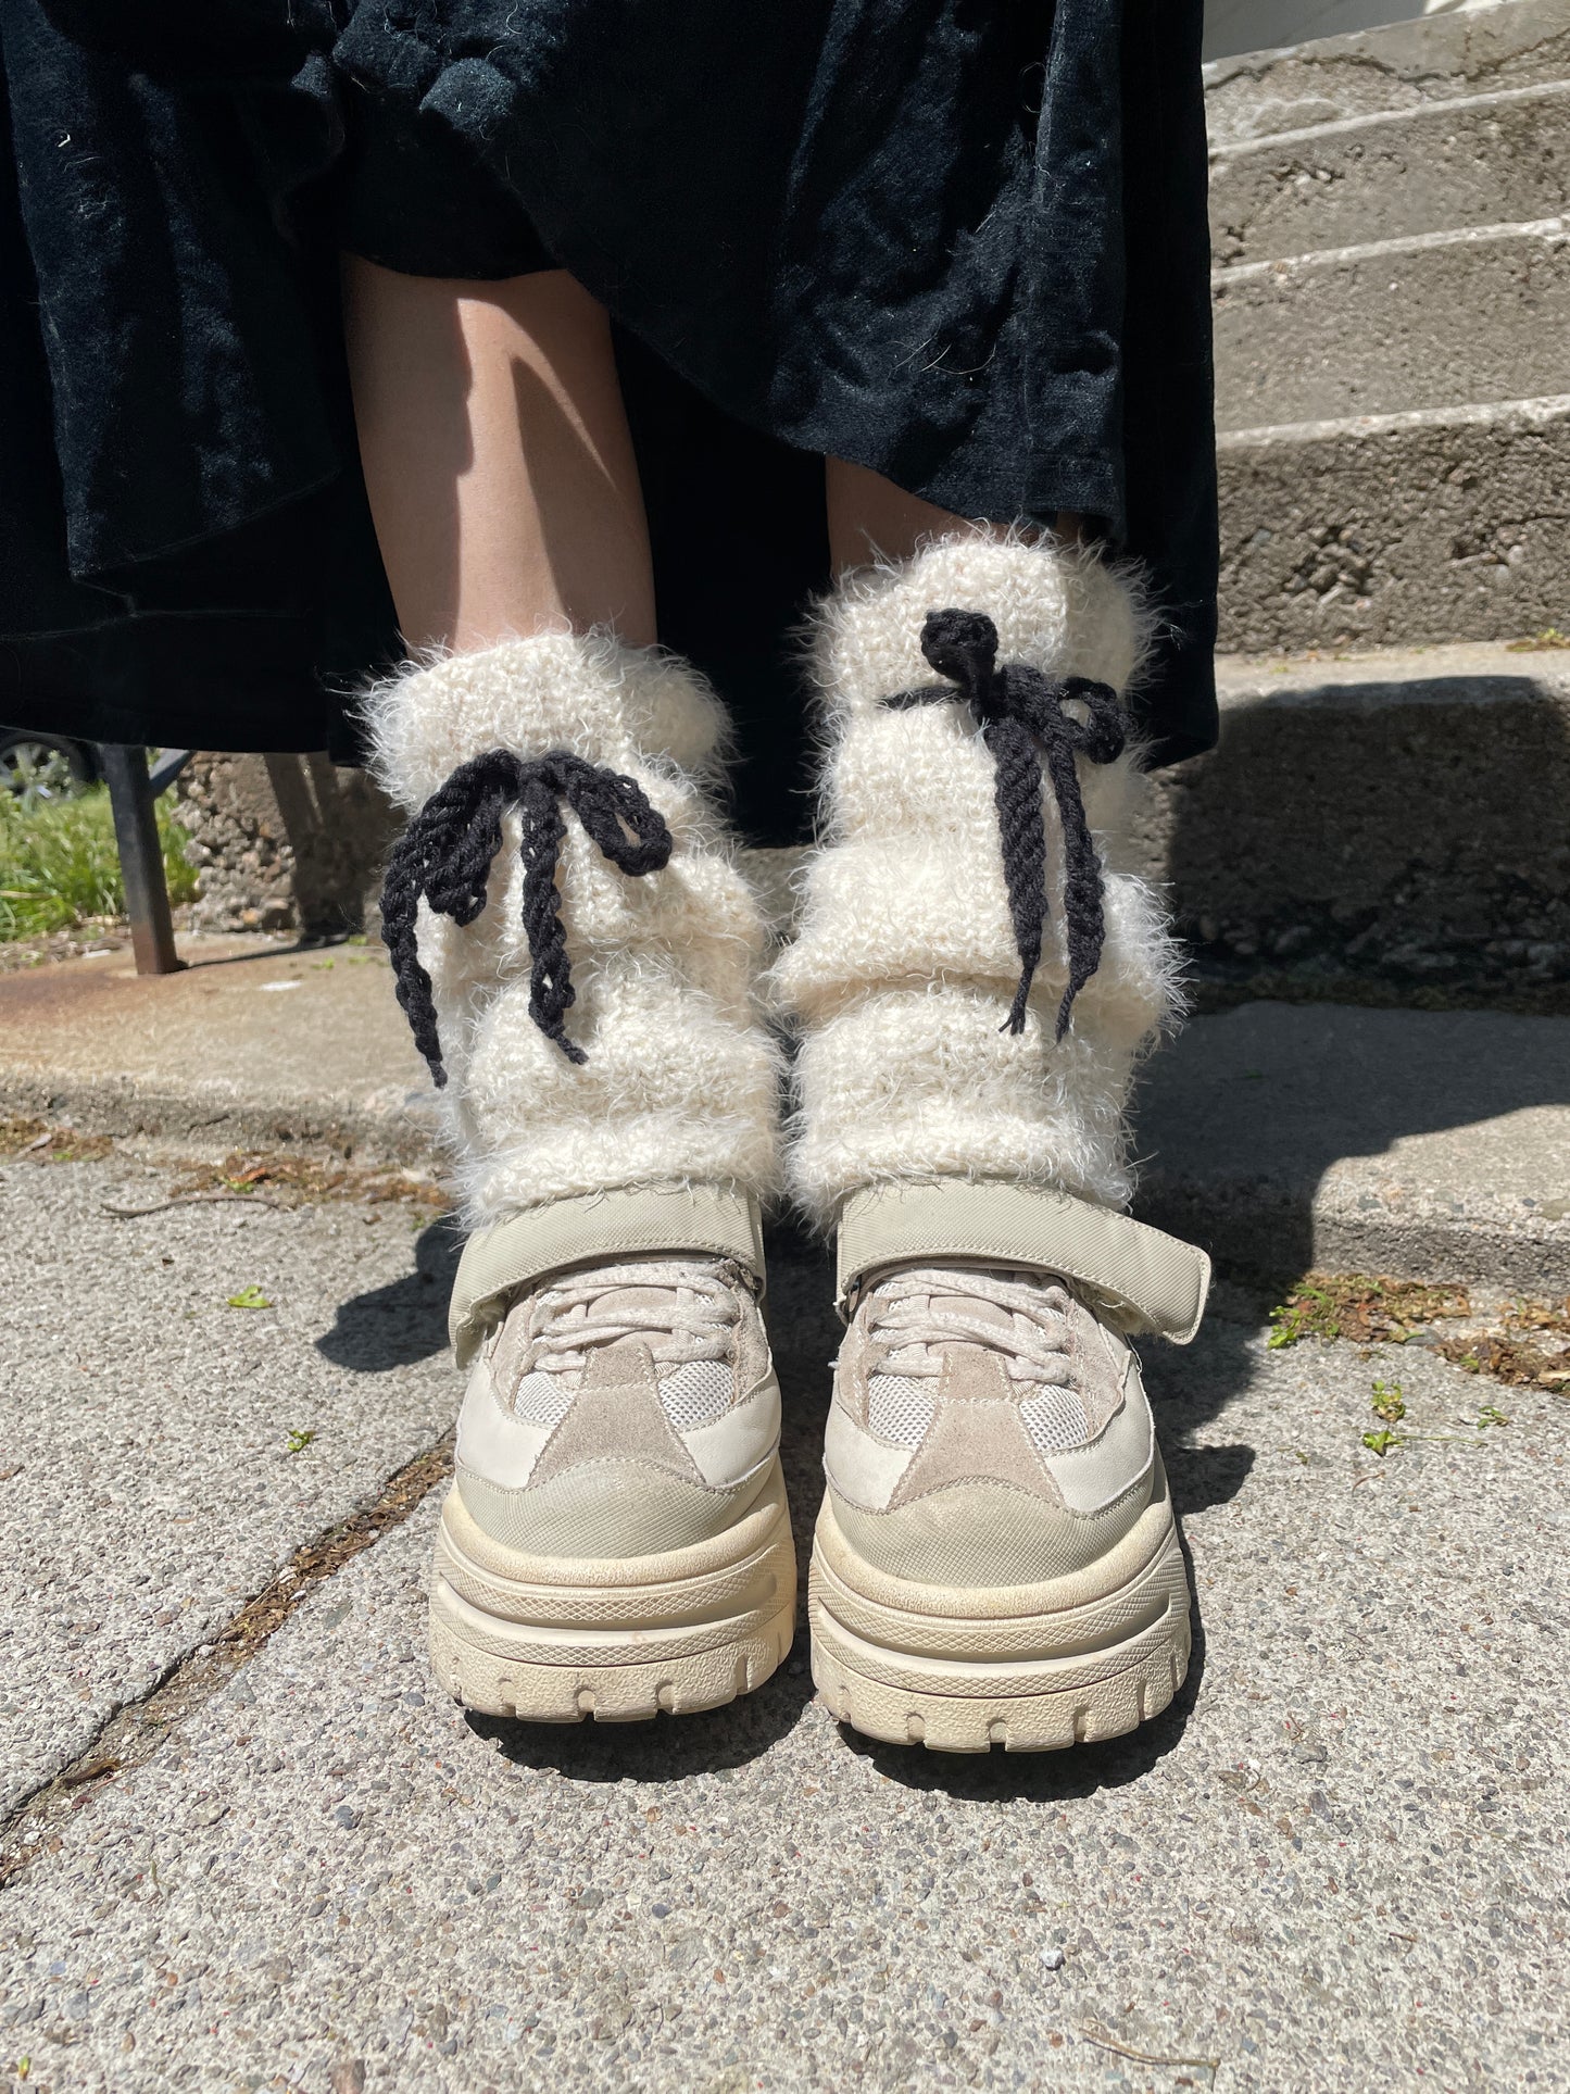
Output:
<svg viewBox="0 0 1570 2094">
<path fill-rule="evenodd" d="M 1103 867 L 1101 963 L 1055 1041 L 1068 984 L 1063 833 L 1042 789 L 1049 915 L 1026 1028 L 1005 1030 L 1022 961 L 996 760 L 957 691 L 888 704 L 938 683 L 921 632 L 942 609 L 986 614 L 1001 666 L 1118 693 L 1143 647 L 1132 591 L 1089 553 L 980 532 L 854 574 L 818 605 L 825 842 L 772 988 L 802 1034 L 787 1173 L 821 1225 L 848 1194 L 902 1179 L 1009 1179 L 1124 1206 L 1130 1076 L 1179 1003 L 1162 903 L 1122 863 L 1145 787 L 1137 758 L 1080 760 Z"/>
</svg>

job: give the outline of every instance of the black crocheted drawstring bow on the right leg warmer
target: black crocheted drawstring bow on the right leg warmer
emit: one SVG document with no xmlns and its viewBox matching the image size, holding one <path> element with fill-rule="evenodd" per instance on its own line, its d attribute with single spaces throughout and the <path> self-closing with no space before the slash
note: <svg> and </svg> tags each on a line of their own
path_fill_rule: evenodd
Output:
<svg viewBox="0 0 1570 2094">
<path fill-rule="evenodd" d="M 1063 932 L 1068 944 L 1068 988 L 1057 1007 L 1057 1039 L 1068 1032 L 1080 988 L 1101 963 L 1105 917 L 1101 911 L 1101 861 L 1084 819 L 1076 756 L 1109 764 L 1122 756 L 1126 729 L 1118 693 L 1086 676 L 1053 681 L 1024 662 L 999 660 L 999 628 L 986 611 L 927 611 L 921 653 L 946 678 L 919 691 L 898 691 L 888 706 L 936 706 L 965 697 L 982 739 L 996 760 L 992 800 L 1003 840 L 1003 879 L 1009 890 L 1013 942 L 1019 949 L 1019 986 L 1003 1026 L 1024 1032 L 1030 984 L 1040 965 L 1040 936 L 1047 923 L 1047 823 L 1040 810 L 1040 764 L 1053 781 L 1057 817 L 1063 825 Z M 1066 710 L 1078 699 L 1086 720 Z"/>
</svg>

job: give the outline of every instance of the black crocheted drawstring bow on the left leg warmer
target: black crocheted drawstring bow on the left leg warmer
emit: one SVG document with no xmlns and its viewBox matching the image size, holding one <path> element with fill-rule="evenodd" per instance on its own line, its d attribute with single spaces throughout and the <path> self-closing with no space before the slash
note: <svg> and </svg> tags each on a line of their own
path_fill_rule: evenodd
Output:
<svg viewBox="0 0 1570 2094">
<path fill-rule="evenodd" d="M 438 915 L 450 915 L 454 923 L 473 923 L 486 907 L 492 859 L 502 848 L 502 815 L 511 806 L 523 817 L 519 854 L 523 930 L 532 961 L 530 1018 L 569 1062 L 588 1060 L 584 1049 L 567 1039 L 563 1026 L 563 1016 L 574 1003 L 574 986 L 557 894 L 557 859 L 567 836 L 559 802 L 574 810 L 586 836 L 624 873 L 634 877 L 657 873 L 670 861 L 672 840 L 666 819 L 649 804 L 636 779 L 605 771 L 567 750 L 530 760 L 511 750 L 490 750 L 458 764 L 410 821 L 387 859 L 381 936 L 394 963 L 398 1001 L 438 1089 L 446 1085 L 448 1072 L 442 1066 L 431 978 L 414 949 L 419 898 L 423 894 Z"/>
</svg>

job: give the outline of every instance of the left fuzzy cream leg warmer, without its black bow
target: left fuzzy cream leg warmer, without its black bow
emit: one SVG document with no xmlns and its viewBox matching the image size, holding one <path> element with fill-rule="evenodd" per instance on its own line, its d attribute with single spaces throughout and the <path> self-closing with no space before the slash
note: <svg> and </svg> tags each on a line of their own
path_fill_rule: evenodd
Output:
<svg viewBox="0 0 1570 2094">
<path fill-rule="evenodd" d="M 373 691 L 366 716 L 375 773 L 410 817 L 475 756 L 569 752 L 634 779 L 672 836 L 670 863 L 632 877 L 563 808 L 565 1030 L 582 1064 L 530 1018 L 517 812 L 475 921 L 421 900 L 465 1225 L 592 1191 L 766 1194 L 779 1143 L 777 1053 L 754 1007 L 766 934 L 705 798 L 724 737 L 708 685 L 609 634 L 544 632 L 417 666 Z"/>
</svg>

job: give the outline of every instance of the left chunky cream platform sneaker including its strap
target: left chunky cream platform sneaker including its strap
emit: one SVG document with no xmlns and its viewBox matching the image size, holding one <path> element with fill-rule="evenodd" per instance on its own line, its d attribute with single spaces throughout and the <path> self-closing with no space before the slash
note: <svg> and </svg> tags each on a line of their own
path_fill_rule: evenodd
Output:
<svg viewBox="0 0 1570 2094">
<path fill-rule="evenodd" d="M 471 1240 L 431 1585 L 431 1665 L 467 1709 L 626 1723 L 781 1663 L 795 1550 L 760 1292 L 756 1208 L 712 1191 L 567 1200 Z"/>
</svg>

